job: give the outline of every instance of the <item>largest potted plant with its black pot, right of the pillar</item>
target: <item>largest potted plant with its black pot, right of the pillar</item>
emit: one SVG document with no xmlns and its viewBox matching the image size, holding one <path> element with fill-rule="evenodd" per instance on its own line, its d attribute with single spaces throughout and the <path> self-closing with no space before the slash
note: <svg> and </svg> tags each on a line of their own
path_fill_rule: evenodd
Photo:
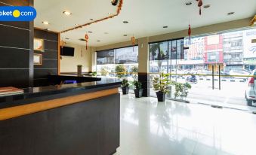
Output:
<svg viewBox="0 0 256 155">
<path fill-rule="evenodd" d="M 171 84 L 169 75 L 170 74 L 160 73 L 159 77 L 153 78 L 153 87 L 159 102 L 165 102 L 165 95 L 170 92 L 170 90 L 168 90 L 168 87 Z"/>
</svg>

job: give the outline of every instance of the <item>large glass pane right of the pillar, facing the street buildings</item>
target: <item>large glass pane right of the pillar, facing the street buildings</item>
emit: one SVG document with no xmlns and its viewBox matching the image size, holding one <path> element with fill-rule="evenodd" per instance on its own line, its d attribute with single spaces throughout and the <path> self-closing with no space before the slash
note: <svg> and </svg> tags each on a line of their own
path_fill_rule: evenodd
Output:
<svg viewBox="0 0 256 155">
<path fill-rule="evenodd" d="M 187 96 L 190 102 L 235 108 L 251 102 L 245 92 L 250 91 L 248 79 L 256 68 L 256 29 L 168 41 L 168 61 L 153 58 L 151 73 L 168 72 L 171 81 L 192 86 Z M 169 99 L 175 98 L 175 87 L 171 90 Z"/>
</svg>

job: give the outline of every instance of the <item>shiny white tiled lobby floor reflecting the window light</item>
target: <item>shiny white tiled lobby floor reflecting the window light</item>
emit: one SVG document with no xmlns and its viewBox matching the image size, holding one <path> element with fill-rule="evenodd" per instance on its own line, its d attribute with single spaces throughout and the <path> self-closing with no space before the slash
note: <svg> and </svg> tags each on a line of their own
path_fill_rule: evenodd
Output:
<svg viewBox="0 0 256 155">
<path fill-rule="evenodd" d="M 255 155 L 256 115 L 156 98 L 121 96 L 115 155 Z"/>
</svg>

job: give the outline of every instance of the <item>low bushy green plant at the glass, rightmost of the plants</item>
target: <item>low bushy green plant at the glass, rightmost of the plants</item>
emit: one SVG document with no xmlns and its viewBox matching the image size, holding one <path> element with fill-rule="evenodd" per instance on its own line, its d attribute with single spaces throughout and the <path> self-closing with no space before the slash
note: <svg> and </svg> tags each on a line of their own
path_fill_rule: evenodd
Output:
<svg viewBox="0 0 256 155">
<path fill-rule="evenodd" d="M 184 97 L 186 98 L 189 90 L 191 89 L 191 85 L 188 83 L 181 84 L 175 81 L 171 81 L 171 84 L 175 86 L 175 93 L 174 93 L 174 98 L 176 99 L 177 97 L 180 97 L 183 99 Z"/>
</svg>

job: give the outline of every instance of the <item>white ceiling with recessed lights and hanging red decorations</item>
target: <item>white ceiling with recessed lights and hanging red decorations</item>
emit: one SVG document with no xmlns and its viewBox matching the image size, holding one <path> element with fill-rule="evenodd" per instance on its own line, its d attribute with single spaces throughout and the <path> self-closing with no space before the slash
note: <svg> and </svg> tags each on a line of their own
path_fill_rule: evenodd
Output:
<svg viewBox="0 0 256 155">
<path fill-rule="evenodd" d="M 196 28 L 253 17 L 256 14 L 255 0 L 203 0 L 204 5 L 211 5 L 211 8 L 202 9 L 202 16 L 199 16 L 196 0 L 123 1 L 118 17 L 62 33 L 61 38 L 69 38 L 65 41 L 72 44 L 85 44 L 79 38 L 85 38 L 85 32 L 91 31 L 93 33 L 88 34 L 89 46 L 97 47 L 130 41 L 132 35 L 142 38 L 187 29 L 189 21 Z M 186 6 L 188 1 L 193 2 L 193 5 Z M 88 23 L 91 18 L 98 20 L 109 16 L 108 13 L 115 14 L 117 7 L 111 5 L 111 0 L 35 0 L 35 9 L 35 27 L 60 32 L 75 24 Z M 72 15 L 67 17 L 63 11 L 70 11 Z M 227 16 L 232 11 L 235 14 Z M 44 26 L 42 21 L 45 20 L 50 25 Z M 122 23 L 124 20 L 129 23 Z M 163 29 L 162 26 L 168 26 L 168 29 Z M 108 34 L 104 34 L 105 32 Z"/>
</svg>

